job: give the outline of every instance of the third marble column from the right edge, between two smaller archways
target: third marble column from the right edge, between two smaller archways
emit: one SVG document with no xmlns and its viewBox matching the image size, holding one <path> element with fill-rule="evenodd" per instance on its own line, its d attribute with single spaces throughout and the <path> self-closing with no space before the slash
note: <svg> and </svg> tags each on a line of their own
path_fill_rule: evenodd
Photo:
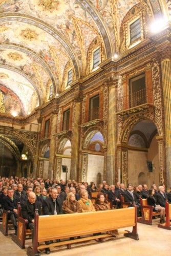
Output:
<svg viewBox="0 0 171 256">
<path fill-rule="evenodd" d="M 78 169 L 78 152 L 79 152 L 79 120 L 80 120 L 80 106 L 79 101 L 75 101 L 73 105 L 73 116 L 72 116 L 72 154 L 71 154 L 71 172 L 70 179 L 77 180 L 77 169 Z"/>
</svg>

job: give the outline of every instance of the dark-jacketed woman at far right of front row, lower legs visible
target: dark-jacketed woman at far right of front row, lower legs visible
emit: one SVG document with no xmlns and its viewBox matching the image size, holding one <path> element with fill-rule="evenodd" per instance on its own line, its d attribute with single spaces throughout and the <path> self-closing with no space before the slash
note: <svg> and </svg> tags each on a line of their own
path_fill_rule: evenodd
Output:
<svg viewBox="0 0 171 256">
<path fill-rule="evenodd" d="M 154 197 L 154 194 L 155 194 L 155 189 L 148 190 L 147 203 L 148 205 L 154 206 L 154 209 L 153 209 L 154 211 L 160 212 L 160 223 L 162 224 L 165 222 L 165 208 L 160 205 L 156 205 L 156 198 Z"/>
</svg>

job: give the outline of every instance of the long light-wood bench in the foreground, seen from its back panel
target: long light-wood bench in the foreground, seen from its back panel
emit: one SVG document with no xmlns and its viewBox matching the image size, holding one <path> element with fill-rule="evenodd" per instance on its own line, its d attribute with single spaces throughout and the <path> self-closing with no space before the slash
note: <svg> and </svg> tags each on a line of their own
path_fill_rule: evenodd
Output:
<svg viewBox="0 0 171 256">
<path fill-rule="evenodd" d="M 102 242 L 104 238 L 112 237 L 112 234 L 106 233 L 107 231 L 130 226 L 133 226 L 132 232 L 125 231 L 124 236 L 139 240 L 137 233 L 136 211 L 136 206 L 126 209 L 53 216 L 38 216 L 38 212 L 36 211 L 34 219 L 35 226 L 33 246 L 28 247 L 27 255 L 37 255 L 38 250 L 43 250 L 47 247 L 67 245 L 67 247 L 70 249 L 71 244 L 73 243 L 95 239 L 99 239 L 100 242 Z M 99 232 L 101 234 L 92 236 L 92 234 Z M 75 240 L 66 240 L 79 236 L 87 237 Z M 53 241 L 57 239 L 64 239 L 65 241 L 52 243 L 49 245 L 40 245 L 41 242 Z"/>
</svg>

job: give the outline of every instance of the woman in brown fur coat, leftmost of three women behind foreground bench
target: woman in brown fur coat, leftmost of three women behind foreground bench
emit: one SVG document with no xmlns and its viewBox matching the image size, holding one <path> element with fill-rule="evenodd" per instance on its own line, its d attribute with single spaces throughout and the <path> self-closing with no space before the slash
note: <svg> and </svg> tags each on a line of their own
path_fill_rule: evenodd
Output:
<svg viewBox="0 0 171 256">
<path fill-rule="evenodd" d="M 81 206 L 75 200 L 75 195 L 72 192 L 68 194 L 66 201 L 63 202 L 62 208 L 65 214 L 75 214 L 76 212 L 82 212 Z"/>
</svg>

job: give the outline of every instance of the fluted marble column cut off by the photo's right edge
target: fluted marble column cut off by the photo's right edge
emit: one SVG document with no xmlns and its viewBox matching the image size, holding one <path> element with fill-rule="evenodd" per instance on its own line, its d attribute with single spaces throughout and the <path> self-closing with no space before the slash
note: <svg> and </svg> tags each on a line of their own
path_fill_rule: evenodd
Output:
<svg viewBox="0 0 171 256">
<path fill-rule="evenodd" d="M 161 61 L 164 122 L 165 122 L 165 149 L 166 149 L 166 182 L 171 187 L 171 59 Z"/>
</svg>

